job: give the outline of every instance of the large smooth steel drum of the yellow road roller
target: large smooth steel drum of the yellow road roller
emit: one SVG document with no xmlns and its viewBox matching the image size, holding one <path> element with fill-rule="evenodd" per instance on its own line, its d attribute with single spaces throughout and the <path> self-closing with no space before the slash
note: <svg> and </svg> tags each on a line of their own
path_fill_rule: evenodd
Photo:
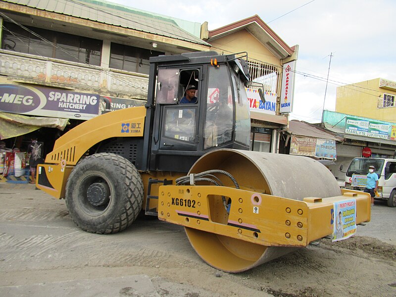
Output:
<svg viewBox="0 0 396 297">
<path fill-rule="evenodd" d="M 341 195 L 330 170 L 308 157 L 219 149 L 199 158 L 189 174 L 211 169 L 229 172 L 241 189 L 257 193 L 296 200 Z M 224 186 L 234 187 L 231 180 L 222 181 Z M 223 205 L 218 203 L 217 207 Z M 261 246 L 188 227 L 185 230 L 191 245 L 204 261 L 228 272 L 248 270 L 296 249 Z"/>
</svg>

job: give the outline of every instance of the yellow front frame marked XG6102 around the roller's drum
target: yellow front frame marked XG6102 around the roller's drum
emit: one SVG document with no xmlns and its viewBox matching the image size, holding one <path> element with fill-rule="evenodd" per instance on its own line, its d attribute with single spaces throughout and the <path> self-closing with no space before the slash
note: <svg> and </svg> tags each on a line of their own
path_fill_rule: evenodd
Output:
<svg viewBox="0 0 396 297">
<path fill-rule="evenodd" d="M 342 196 L 303 201 L 217 186 L 159 187 L 160 220 L 263 246 L 305 247 L 333 233 L 333 202 L 356 200 L 356 224 L 370 220 L 370 196 L 343 190 Z M 229 215 L 210 197 L 231 198 Z M 215 218 L 216 217 L 216 218 Z"/>
</svg>

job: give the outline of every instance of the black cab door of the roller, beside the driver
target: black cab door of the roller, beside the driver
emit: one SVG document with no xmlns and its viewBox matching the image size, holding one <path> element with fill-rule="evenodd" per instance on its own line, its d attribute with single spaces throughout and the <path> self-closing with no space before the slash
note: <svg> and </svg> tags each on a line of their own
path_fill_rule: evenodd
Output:
<svg viewBox="0 0 396 297">
<path fill-rule="evenodd" d="M 150 169 L 187 172 L 198 159 L 202 66 L 158 69 Z M 180 104 L 189 84 L 196 103 Z"/>
</svg>

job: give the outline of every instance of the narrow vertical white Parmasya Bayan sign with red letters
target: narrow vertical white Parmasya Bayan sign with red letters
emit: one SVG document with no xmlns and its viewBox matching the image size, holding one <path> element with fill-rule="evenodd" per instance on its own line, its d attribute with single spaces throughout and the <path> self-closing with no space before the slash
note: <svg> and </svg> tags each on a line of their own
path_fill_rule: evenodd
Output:
<svg viewBox="0 0 396 297">
<path fill-rule="evenodd" d="M 295 68 L 296 68 L 296 61 L 292 61 L 283 65 L 281 107 L 280 107 L 281 113 L 293 111 Z"/>
</svg>

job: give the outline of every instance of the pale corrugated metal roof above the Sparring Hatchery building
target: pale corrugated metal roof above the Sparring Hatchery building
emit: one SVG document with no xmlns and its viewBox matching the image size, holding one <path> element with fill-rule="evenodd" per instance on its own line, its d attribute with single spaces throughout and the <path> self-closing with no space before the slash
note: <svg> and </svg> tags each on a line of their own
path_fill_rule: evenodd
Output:
<svg viewBox="0 0 396 297">
<path fill-rule="evenodd" d="M 210 46 L 198 37 L 184 31 L 175 21 L 150 15 L 126 6 L 96 0 L 3 0 L 40 10 L 87 19 L 103 24 L 133 29 L 145 33 Z M 118 9 L 117 9 L 118 8 Z M 120 10 L 122 8 L 122 10 Z"/>
</svg>

